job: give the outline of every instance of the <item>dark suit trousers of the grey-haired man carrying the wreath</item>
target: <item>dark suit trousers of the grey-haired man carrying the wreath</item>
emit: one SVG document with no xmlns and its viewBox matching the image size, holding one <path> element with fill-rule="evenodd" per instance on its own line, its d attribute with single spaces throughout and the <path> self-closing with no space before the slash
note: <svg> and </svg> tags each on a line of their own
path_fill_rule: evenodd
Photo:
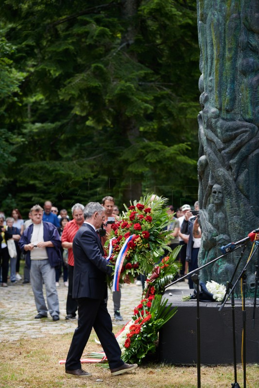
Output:
<svg viewBox="0 0 259 388">
<path fill-rule="evenodd" d="M 79 298 L 77 301 L 78 327 L 69 348 L 66 370 L 74 371 L 81 368 L 80 358 L 92 328 L 102 344 L 110 369 L 119 368 L 124 362 L 121 360 L 120 346 L 112 332 L 111 317 L 104 299 Z"/>
</svg>

